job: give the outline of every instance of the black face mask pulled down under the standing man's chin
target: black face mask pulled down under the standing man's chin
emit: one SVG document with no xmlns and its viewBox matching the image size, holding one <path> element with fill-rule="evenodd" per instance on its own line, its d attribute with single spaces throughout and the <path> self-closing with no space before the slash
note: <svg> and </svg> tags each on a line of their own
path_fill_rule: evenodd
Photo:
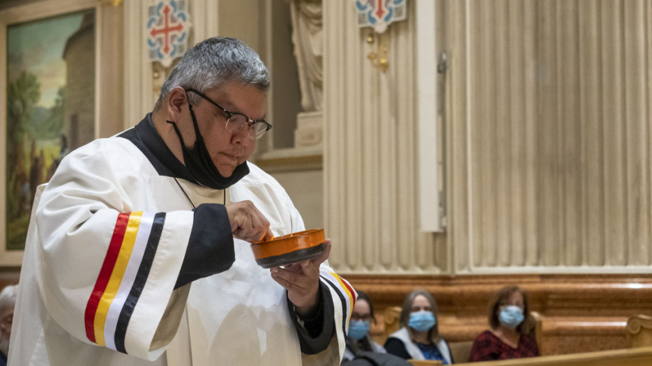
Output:
<svg viewBox="0 0 652 366">
<path fill-rule="evenodd" d="M 183 137 L 181 137 L 181 132 L 176 128 L 176 123 L 173 121 L 166 122 L 172 124 L 174 127 L 174 132 L 176 132 L 176 135 L 179 137 L 179 142 L 181 142 L 185 167 L 187 167 L 190 174 L 195 177 L 195 180 L 202 185 L 206 185 L 206 187 L 215 190 L 223 190 L 234 185 L 237 181 L 241 180 L 243 176 L 249 174 L 249 167 L 247 166 L 246 161 L 241 165 L 238 165 L 231 176 L 225 177 L 220 174 L 218 168 L 213 164 L 213 159 L 211 159 L 209 151 L 206 149 L 204 138 L 202 137 L 202 133 L 199 132 L 197 119 L 195 119 L 195 112 L 192 112 L 192 105 L 190 105 L 190 103 L 188 103 L 188 109 L 190 109 L 190 116 L 192 116 L 192 124 L 195 125 L 195 146 L 192 147 L 192 150 L 188 150 L 188 148 L 185 147 Z"/>
</svg>

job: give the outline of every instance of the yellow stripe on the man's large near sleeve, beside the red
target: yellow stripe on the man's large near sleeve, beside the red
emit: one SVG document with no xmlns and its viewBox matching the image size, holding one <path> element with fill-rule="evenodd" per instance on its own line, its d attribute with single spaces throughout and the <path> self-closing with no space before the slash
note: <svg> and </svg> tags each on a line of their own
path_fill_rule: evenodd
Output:
<svg viewBox="0 0 652 366">
<path fill-rule="evenodd" d="M 142 215 L 142 211 L 132 212 L 129 215 L 129 222 L 127 224 L 125 236 L 122 240 L 118 259 L 116 259 L 116 265 L 113 267 L 111 277 L 107 283 L 107 288 L 102 294 L 102 298 L 100 298 L 98 310 L 95 313 L 95 342 L 100 346 L 106 345 L 104 341 L 104 325 L 107 320 L 107 314 L 109 313 L 109 307 L 111 306 L 113 299 L 116 297 L 116 293 L 120 287 L 120 282 L 122 282 L 122 277 L 125 275 L 125 271 L 127 270 L 127 264 L 129 264 L 129 257 L 131 257 L 131 252 L 134 249 L 136 234 L 138 234 Z"/>
</svg>

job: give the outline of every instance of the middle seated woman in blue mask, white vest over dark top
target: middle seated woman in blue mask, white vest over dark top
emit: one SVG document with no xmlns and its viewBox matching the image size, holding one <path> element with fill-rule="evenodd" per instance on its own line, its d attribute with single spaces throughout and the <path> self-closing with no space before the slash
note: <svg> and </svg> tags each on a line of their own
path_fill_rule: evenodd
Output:
<svg viewBox="0 0 652 366">
<path fill-rule="evenodd" d="M 437 303 L 427 291 L 412 291 L 403 303 L 400 324 L 385 342 L 388 353 L 405 359 L 441 360 L 453 363 L 448 343 L 439 336 Z"/>
</svg>

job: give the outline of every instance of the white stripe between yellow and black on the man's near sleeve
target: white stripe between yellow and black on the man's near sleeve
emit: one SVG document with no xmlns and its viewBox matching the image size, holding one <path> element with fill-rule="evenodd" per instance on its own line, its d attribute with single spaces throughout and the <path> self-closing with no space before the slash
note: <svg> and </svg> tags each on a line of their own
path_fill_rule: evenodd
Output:
<svg viewBox="0 0 652 366">
<path fill-rule="evenodd" d="M 138 273 L 138 268 L 140 267 L 140 262 L 142 261 L 147 241 L 149 240 L 149 233 L 151 232 L 153 221 L 154 213 L 143 213 L 142 218 L 140 219 L 138 233 L 136 234 L 134 248 L 131 252 L 131 257 L 129 257 L 129 263 L 127 264 L 125 274 L 120 282 L 120 287 L 116 293 L 116 297 L 113 299 L 111 307 L 109 307 L 107 321 L 104 325 L 104 342 L 109 349 L 116 349 L 114 335 L 116 333 L 118 318 L 120 317 L 122 307 L 125 300 L 127 300 L 127 296 L 129 296 L 131 287 L 134 284 L 134 280 Z"/>
</svg>

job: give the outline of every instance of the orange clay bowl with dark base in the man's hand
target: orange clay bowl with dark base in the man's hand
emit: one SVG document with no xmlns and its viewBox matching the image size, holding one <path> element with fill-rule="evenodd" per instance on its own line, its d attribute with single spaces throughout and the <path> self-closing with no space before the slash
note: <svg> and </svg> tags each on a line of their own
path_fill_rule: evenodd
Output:
<svg viewBox="0 0 652 366">
<path fill-rule="evenodd" d="M 259 266 L 272 268 L 319 257 L 326 248 L 324 242 L 324 229 L 312 229 L 257 241 L 251 250 Z"/>
</svg>

